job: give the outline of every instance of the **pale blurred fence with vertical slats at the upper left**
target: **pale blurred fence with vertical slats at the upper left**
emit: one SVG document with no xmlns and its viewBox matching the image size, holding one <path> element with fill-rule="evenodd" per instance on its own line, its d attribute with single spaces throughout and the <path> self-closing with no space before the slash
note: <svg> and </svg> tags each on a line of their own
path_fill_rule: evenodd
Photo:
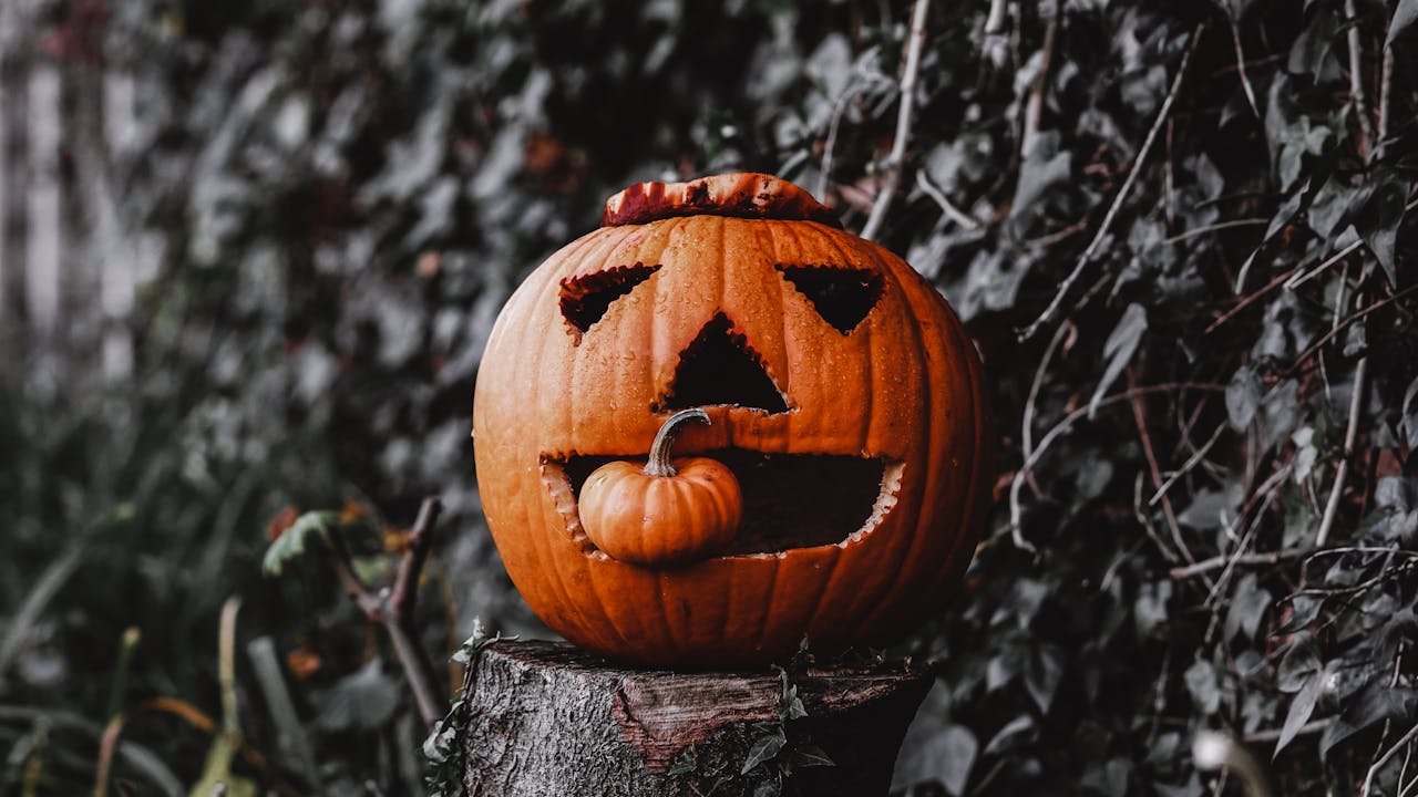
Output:
<svg viewBox="0 0 1418 797">
<path fill-rule="evenodd" d="M 0 0 L 0 352 L 122 379 L 125 319 L 156 258 L 121 217 L 138 111 L 130 69 L 105 58 L 108 13 Z"/>
</svg>

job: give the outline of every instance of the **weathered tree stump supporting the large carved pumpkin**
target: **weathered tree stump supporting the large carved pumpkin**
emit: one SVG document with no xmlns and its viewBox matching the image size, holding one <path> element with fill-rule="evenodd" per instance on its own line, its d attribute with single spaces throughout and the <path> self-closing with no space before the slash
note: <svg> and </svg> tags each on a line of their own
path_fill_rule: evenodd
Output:
<svg viewBox="0 0 1418 797">
<path fill-rule="evenodd" d="M 518 641 L 488 645 L 472 667 L 461 736 L 464 786 L 478 797 L 780 793 L 764 784 L 885 796 L 933 679 L 910 662 L 793 676 L 628 669 L 564 642 Z M 807 716 L 784 720 L 787 686 Z M 776 736 L 786 743 L 763 759 Z M 834 766 L 803 766 L 821 753 Z M 744 771 L 752 759 L 763 760 Z"/>
</svg>

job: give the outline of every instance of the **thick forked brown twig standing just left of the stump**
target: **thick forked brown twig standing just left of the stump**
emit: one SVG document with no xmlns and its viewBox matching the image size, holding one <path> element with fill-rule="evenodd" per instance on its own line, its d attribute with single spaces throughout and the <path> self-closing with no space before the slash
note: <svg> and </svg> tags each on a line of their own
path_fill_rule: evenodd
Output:
<svg viewBox="0 0 1418 797">
<path fill-rule="evenodd" d="M 398 664 L 408 678 L 408 688 L 414 692 L 414 702 L 418 706 L 418 716 L 424 726 L 432 728 L 442 718 L 441 701 L 438 699 L 434 668 L 428 661 L 428 654 L 417 642 L 413 614 L 418 591 L 418 574 L 428 557 L 432 546 L 432 526 L 438 522 L 442 503 L 437 498 L 425 498 L 418 509 L 418 519 L 408 535 L 408 549 L 398 562 L 398 572 L 394 576 L 391 590 L 381 590 L 373 594 L 354 574 L 354 564 L 350 559 L 345 539 L 337 532 L 326 532 L 325 542 L 335 554 L 335 573 L 345 586 L 345 591 L 360 611 L 372 623 L 377 623 L 389 632 L 389 640 L 394 645 Z"/>
</svg>

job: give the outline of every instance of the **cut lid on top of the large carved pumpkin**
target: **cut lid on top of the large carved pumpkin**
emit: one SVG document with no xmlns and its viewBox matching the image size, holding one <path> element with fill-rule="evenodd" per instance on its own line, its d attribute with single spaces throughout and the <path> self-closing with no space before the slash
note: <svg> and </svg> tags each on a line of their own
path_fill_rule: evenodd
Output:
<svg viewBox="0 0 1418 797">
<path fill-rule="evenodd" d="M 605 200 L 601 227 L 647 224 L 676 216 L 733 216 L 842 225 L 832 208 L 813 199 L 804 189 L 773 174 L 740 172 L 686 183 L 637 183 Z"/>
</svg>

